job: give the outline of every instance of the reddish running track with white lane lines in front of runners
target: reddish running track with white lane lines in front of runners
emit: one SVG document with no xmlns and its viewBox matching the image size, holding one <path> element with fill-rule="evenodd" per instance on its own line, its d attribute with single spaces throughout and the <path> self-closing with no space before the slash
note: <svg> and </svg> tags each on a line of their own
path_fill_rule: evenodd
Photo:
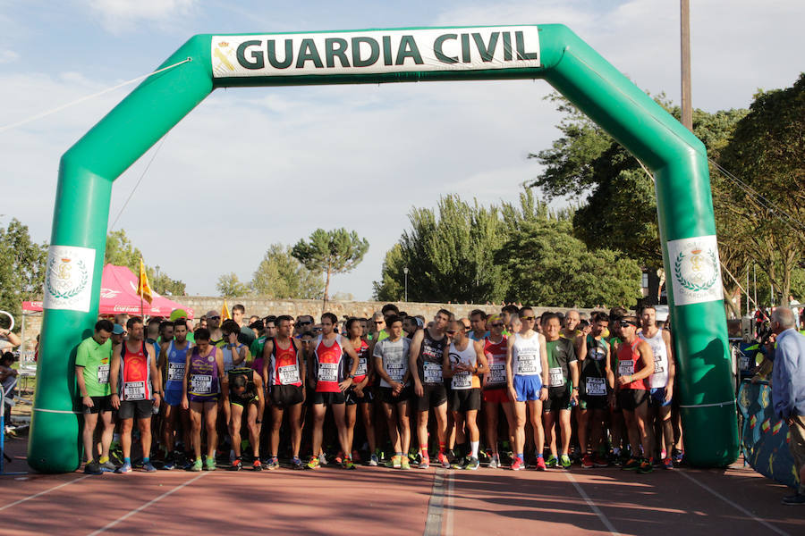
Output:
<svg viewBox="0 0 805 536">
<path fill-rule="evenodd" d="M 24 471 L 23 440 L 6 471 Z M 24 480 L 21 480 L 24 479 Z M 0 534 L 805 534 L 791 493 L 725 471 L 290 469 L 0 476 Z"/>
</svg>

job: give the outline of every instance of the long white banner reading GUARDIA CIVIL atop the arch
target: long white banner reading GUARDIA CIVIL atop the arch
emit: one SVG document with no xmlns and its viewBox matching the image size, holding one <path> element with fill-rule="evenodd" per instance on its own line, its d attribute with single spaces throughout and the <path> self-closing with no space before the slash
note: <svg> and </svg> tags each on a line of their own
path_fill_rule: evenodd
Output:
<svg viewBox="0 0 805 536">
<path fill-rule="evenodd" d="M 214 78 L 539 67 L 536 26 L 213 36 Z"/>
</svg>

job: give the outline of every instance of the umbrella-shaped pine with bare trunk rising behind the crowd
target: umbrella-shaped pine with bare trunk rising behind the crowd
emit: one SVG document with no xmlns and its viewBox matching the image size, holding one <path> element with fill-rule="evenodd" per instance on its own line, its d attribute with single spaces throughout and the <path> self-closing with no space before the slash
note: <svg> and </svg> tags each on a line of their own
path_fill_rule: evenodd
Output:
<svg viewBox="0 0 805 536">
<path fill-rule="evenodd" d="M 324 307 L 330 291 L 330 277 L 346 273 L 360 264 L 369 249 L 369 241 L 361 239 L 354 230 L 317 229 L 310 233 L 309 241 L 300 240 L 293 246 L 293 255 L 310 272 L 325 273 Z"/>
</svg>

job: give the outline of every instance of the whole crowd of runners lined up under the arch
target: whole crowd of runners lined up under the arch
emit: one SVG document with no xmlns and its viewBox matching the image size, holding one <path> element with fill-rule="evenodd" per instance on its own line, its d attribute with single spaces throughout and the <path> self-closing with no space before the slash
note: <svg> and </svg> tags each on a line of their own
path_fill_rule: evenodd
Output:
<svg viewBox="0 0 805 536">
<path fill-rule="evenodd" d="M 652 307 L 184 315 L 118 315 L 81 342 L 86 473 L 682 461 L 671 332 Z"/>
</svg>

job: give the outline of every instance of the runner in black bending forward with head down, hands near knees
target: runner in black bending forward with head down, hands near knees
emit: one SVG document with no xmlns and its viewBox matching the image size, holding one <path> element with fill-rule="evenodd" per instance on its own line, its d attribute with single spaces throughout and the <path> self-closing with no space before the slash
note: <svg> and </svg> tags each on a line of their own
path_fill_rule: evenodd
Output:
<svg viewBox="0 0 805 536">
<path fill-rule="evenodd" d="M 263 398 L 263 381 L 258 373 L 249 367 L 233 368 L 228 372 L 229 389 L 224 397 L 229 403 L 229 437 L 232 439 L 235 459 L 230 471 L 240 471 L 243 467 L 241 453 L 241 424 L 246 414 L 246 427 L 249 429 L 249 445 L 252 455 L 252 471 L 261 471 L 260 465 L 260 423 L 266 409 Z"/>
</svg>

